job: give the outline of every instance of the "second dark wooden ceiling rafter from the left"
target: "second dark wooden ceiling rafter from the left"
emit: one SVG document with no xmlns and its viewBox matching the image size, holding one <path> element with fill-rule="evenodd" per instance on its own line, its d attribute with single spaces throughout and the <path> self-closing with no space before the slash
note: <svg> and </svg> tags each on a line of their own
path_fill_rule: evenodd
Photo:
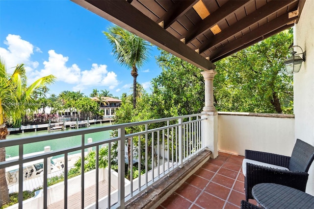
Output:
<svg viewBox="0 0 314 209">
<path fill-rule="evenodd" d="M 197 36 L 201 35 L 208 31 L 211 27 L 217 24 L 222 19 L 226 18 L 231 13 L 234 13 L 239 7 L 245 5 L 250 0 L 230 0 L 219 9 L 211 13 L 207 18 L 205 18 L 200 23 L 196 24 L 187 31 L 186 34 L 182 35 L 182 38 L 185 38 L 185 43 L 190 43 Z"/>
</svg>

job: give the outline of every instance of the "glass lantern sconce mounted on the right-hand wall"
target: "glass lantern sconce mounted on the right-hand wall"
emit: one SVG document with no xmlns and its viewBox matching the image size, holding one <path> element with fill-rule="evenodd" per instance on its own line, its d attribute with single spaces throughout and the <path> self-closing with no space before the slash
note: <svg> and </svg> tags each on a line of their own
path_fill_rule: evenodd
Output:
<svg viewBox="0 0 314 209">
<path fill-rule="evenodd" d="M 303 52 L 300 46 L 291 46 L 291 47 L 293 47 L 293 51 L 291 52 L 292 56 L 289 57 L 284 62 L 286 66 L 286 71 L 288 74 L 296 73 L 300 70 L 302 62 L 305 61 L 305 55 L 306 55 L 306 51 Z M 296 51 L 294 51 L 294 47 L 301 48 L 302 53 L 299 53 L 299 54 L 302 54 L 302 58 L 299 56 L 299 54 L 296 53 Z"/>
</svg>

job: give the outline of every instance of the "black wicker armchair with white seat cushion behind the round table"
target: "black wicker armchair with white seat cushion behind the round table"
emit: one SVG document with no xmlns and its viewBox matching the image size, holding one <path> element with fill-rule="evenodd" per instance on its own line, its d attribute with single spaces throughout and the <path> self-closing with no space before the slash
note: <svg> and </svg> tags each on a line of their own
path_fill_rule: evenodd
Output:
<svg viewBox="0 0 314 209">
<path fill-rule="evenodd" d="M 260 183 L 275 183 L 305 191 L 309 178 L 309 168 L 314 160 L 314 146 L 296 139 L 291 157 L 245 150 L 245 159 L 288 168 L 287 170 L 270 168 L 246 163 L 245 198 L 253 199 L 252 188 Z"/>
</svg>

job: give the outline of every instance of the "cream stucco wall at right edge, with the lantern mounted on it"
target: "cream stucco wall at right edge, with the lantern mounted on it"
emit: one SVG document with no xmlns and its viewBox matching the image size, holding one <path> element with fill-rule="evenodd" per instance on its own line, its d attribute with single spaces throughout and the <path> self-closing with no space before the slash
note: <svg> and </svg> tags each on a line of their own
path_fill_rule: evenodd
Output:
<svg viewBox="0 0 314 209">
<path fill-rule="evenodd" d="M 294 45 L 306 50 L 306 61 L 293 76 L 295 138 L 314 145 L 314 0 L 306 0 L 294 27 Z M 299 51 L 298 51 L 299 52 Z M 314 195 L 314 165 L 310 168 L 306 192 Z"/>
</svg>

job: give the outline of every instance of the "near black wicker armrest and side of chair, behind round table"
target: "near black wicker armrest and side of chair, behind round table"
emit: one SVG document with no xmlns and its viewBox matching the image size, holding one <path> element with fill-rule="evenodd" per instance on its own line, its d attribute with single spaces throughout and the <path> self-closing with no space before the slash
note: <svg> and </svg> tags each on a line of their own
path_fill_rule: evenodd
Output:
<svg viewBox="0 0 314 209">
<path fill-rule="evenodd" d="M 274 183 L 305 191 L 309 174 L 306 172 L 280 170 L 247 163 L 245 177 L 246 200 L 253 199 L 253 186 L 261 183 Z"/>
</svg>

